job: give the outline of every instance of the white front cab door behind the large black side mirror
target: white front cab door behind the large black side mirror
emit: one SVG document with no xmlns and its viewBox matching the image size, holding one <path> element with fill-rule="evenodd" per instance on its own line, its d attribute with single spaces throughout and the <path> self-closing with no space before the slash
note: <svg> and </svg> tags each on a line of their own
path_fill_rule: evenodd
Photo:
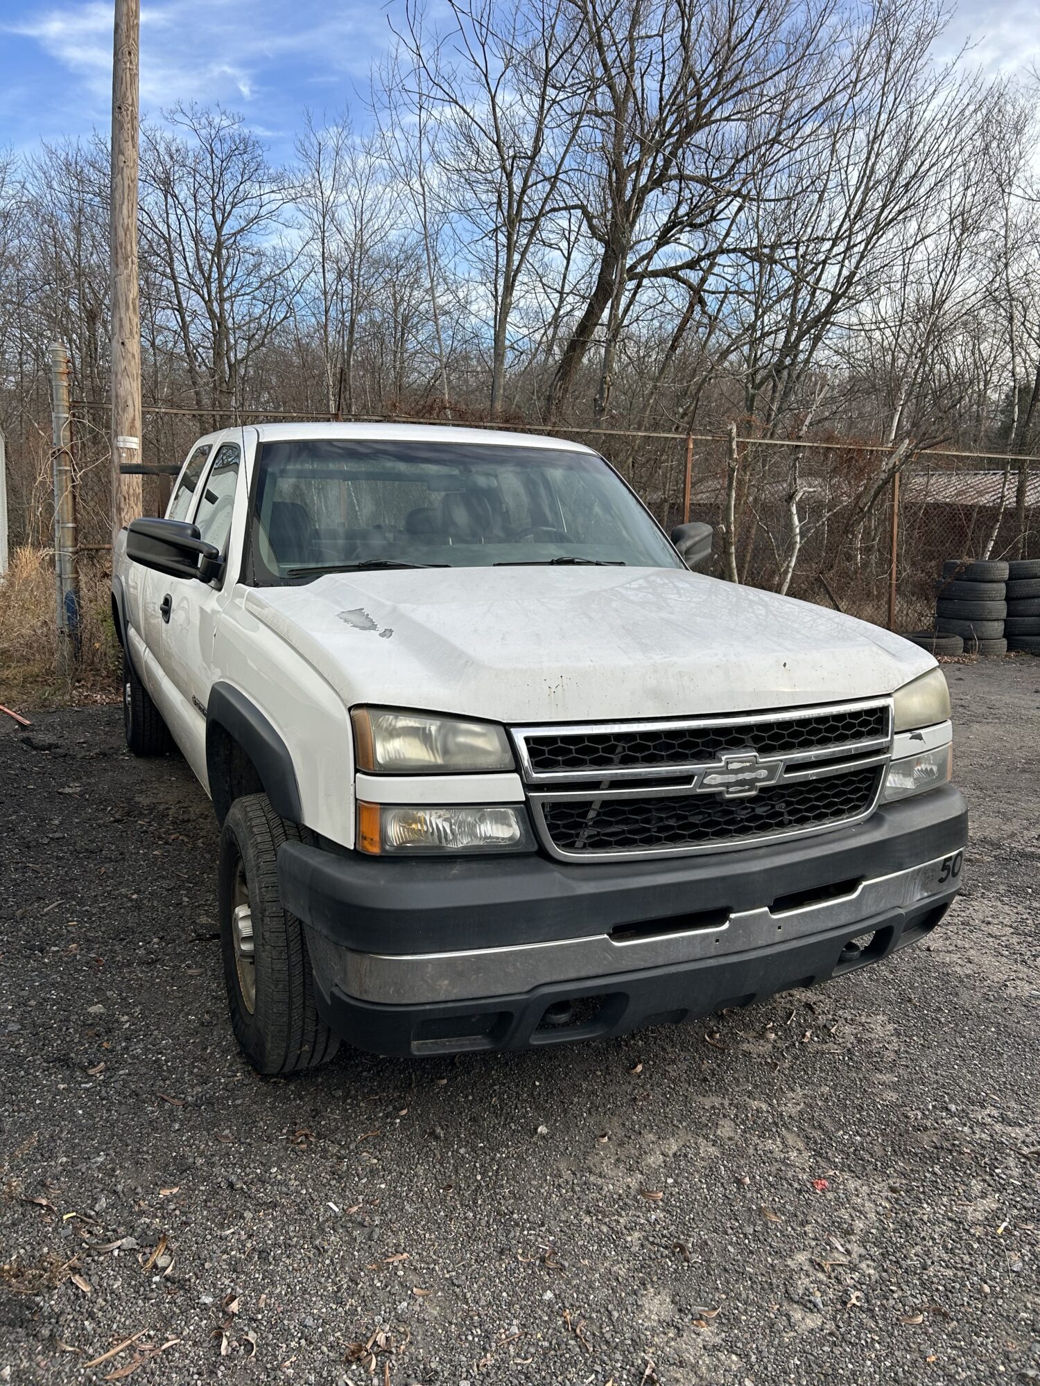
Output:
<svg viewBox="0 0 1040 1386">
<path fill-rule="evenodd" d="M 236 430 L 233 438 L 216 444 L 186 516 L 198 525 L 201 538 L 220 550 L 223 577 L 215 584 L 158 577 L 164 586 L 161 663 L 169 701 L 164 711 L 184 758 L 204 784 L 205 710 L 209 689 L 219 678 L 212 667 L 214 636 L 239 579 L 240 536 L 248 506 L 241 438 L 241 431 Z"/>
</svg>

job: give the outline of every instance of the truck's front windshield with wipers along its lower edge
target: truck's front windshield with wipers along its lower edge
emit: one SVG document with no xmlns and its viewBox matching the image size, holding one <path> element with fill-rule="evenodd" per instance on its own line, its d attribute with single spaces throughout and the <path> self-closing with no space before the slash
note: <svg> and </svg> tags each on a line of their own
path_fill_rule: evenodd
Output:
<svg viewBox="0 0 1040 1386">
<path fill-rule="evenodd" d="M 356 567 L 682 567 L 602 457 L 502 444 L 266 442 L 251 581 Z"/>
</svg>

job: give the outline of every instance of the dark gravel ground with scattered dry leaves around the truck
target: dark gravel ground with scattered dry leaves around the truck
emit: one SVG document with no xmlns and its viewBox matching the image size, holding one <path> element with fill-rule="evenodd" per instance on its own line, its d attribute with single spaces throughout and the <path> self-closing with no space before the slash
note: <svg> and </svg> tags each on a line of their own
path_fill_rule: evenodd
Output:
<svg viewBox="0 0 1040 1386">
<path fill-rule="evenodd" d="M 295 1081 L 233 1044 L 184 764 L 0 718 L 0 1382 L 1040 1380 L 1040 663 L 947 672 L 972 848 L 926 945 Z"/>
</svg>

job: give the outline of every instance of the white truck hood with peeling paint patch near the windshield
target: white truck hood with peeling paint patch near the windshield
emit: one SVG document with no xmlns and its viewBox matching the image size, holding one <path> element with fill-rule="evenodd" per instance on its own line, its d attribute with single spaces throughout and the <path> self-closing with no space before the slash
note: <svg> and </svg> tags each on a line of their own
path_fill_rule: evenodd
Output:
<svg viewBox="0 0 1040 1386">
<path fill-rule="evenodd" d="M 329 574 L 250 588 L 244 607 L 347 705 L 510 723 L 872 697 L 935 664 L 865 621 L 678 568 Z"/>
</svg>

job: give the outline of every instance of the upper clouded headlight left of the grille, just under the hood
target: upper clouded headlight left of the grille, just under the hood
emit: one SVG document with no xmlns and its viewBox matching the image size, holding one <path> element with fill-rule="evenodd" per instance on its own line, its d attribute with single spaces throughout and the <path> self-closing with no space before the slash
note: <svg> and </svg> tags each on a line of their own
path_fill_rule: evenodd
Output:
<svg viewBox="0 0 1040 1386">
<path fill-rule="evenodd" d="M 478 775 L 512 771 L 505 728 L 427 712 L 355 707 L 358 769 L 388 775 Z"/>
</svg>

